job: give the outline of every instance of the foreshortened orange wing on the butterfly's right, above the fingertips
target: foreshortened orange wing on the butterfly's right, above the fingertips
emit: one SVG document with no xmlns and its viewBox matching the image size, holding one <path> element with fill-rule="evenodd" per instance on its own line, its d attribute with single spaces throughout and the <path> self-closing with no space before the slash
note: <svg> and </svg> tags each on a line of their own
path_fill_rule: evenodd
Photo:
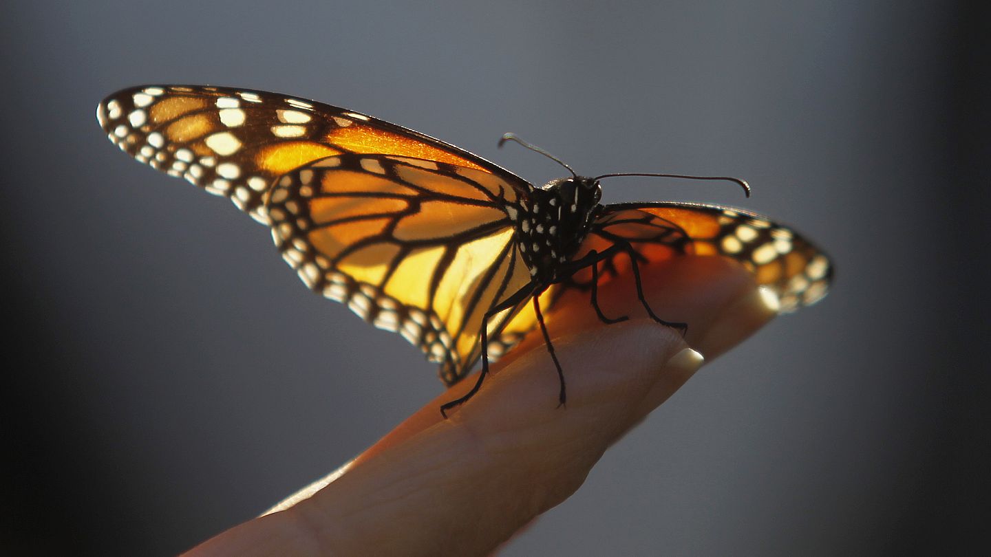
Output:
<svg viewBox="0 0 991 557">
<path fill-rule="evenodd" d="M 774 292 L 782 312 L 815 303 L 832 278 L 825 254 L 793 230 L 753 213 L 695 203 L 620 203 L 606 205 L 576 257 L 628 242 L 650 264 L 681 255 L 721 256 L 739 262 L 757 283 Z M 629 260 L 617 255 L 604 262 L 600 283 L 629 273 Z M 588 287 L 591 271 L 569 282 Z"/>
</svg>

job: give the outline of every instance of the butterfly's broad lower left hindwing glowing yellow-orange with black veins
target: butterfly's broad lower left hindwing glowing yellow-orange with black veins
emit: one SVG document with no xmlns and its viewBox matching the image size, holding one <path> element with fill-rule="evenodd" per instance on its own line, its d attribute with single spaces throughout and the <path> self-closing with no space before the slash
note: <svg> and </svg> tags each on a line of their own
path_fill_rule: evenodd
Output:
<svg viewBox="0 0 991 557">
<path fill-rule="evenodd" d="M 348 154 L 280 177 L 269 216 L 307 285 L 401 334 L 453 384 L 481 355 L 486 313 L 530 282 L 514 206 L 517 192 L 480 169 Z M 490 338 L 525 303 L 490 318 Z"/>
</svg>

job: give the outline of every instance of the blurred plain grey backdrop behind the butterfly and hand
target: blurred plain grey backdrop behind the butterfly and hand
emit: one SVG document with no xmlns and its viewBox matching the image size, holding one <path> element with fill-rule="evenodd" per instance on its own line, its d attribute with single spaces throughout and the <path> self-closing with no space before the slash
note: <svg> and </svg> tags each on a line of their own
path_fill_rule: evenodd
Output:
<svg viewBox="0 0 991 557">
<path fill-rule="evenodd" d="M 704 369 L 506 555 L 962 549 L 988 518 L 986 20 L 951 2 L 14 2 L 0 20 L 3 529 L 17 552 L 168 554 L 441 390 L 312 295 L 231 204 L 123 157 L 146 82 L 292 93 L 606 201 L 732 203 L 835 259 L 826 300 Z M 384 533 L 384 535 L 387 535 Z M 3 547 L 0 546 L 0 547 Z"/>
</svg>

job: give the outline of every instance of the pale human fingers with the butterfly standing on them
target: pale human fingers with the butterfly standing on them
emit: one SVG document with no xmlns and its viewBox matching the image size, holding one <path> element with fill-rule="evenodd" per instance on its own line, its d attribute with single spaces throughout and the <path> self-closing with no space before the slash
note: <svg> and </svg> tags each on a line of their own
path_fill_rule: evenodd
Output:
<svg viewBox="0 0 991 557">
<path fill-rule="evenodd" d="M 621 323 L 602 323 L 588 293 L 569 294 L 547 314 L 566 407 L 557 407 L 557 373 L 535 332 L 448 419 L 440 405 L 469 390 L 474 377 L 328 479 L 188 555 L 493 553 L 574 494 L 606 449 L 704 361 L 776 315 L 750 274 L 720 258 L 681 258 L 641 275 L 654 312 L 689 324 L 684 338 L 646 317 L 631 283 L 613 281 L 599 292 L 607 316 L 630 317 Z M 320 442 L 332 438 L 328 431 Z"/>
</svg>

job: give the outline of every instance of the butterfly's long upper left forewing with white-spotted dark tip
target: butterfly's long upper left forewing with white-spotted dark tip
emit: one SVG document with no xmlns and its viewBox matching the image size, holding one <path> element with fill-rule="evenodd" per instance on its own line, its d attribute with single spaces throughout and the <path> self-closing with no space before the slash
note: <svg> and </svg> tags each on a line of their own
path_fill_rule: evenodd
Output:
<svg viewBox="0 0 991 557">
<path fill-rule="evenodd" d="M 229 87 L 147 85 L 99 104 L 97 119 L 125 153 L 268 223 L 272 181 L 306 163 L 346 153 L 398 155 L 525 182 L 481 157 L 418 132 L 336 106 Z"/>
</svg>

